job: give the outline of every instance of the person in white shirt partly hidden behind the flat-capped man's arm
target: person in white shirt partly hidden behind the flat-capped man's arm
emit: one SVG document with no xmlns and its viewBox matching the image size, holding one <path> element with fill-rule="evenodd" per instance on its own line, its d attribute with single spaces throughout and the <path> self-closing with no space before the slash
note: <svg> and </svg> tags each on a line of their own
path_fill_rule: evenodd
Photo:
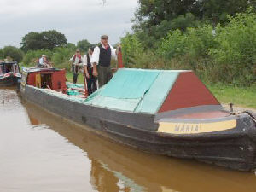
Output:
<svg viewBox="0 0 256 192">
<path fill-rule="evenodd" d="M 88 50 L 88 53 L 84 55 L 83 57 L 83 63 L 84 63 L 84 75 L 87 82 L 87 90 L 88 95 L 92 94 L 94 91 L 97 90 L 97 78 L 92 75 L 92 64 L 90 63 L 91 56 L 93 54 L 93 47 L 90 47 Z"/>
</svg>

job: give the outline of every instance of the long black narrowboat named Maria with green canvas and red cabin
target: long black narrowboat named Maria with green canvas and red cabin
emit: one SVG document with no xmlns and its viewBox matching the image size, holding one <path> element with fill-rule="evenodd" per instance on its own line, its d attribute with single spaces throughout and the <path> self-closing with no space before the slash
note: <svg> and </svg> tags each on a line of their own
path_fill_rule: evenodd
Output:
<svg viewBox="0 0 256 192">
<path fill-rule="evenodd" d="M 240 171 L 256 168 L 255 114 L 224 110 L 189 70 L 122 68 L 87 97 L 83 84 L 66 83 L 65 70 L 23 68 L 20 95 L 145 152 Z"/>
</svg>

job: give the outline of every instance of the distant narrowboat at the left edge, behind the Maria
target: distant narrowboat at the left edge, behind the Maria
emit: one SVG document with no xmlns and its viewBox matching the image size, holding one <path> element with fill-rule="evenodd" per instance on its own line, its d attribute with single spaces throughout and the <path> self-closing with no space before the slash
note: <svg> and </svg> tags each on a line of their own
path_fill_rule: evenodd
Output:
<svg viewBox="0 0 256 192">
<path fill-rule="evenodd" d="M 18 84 L 21 78 L 17 62 L 0 62 L 0 87 Z"/>
</svg>

